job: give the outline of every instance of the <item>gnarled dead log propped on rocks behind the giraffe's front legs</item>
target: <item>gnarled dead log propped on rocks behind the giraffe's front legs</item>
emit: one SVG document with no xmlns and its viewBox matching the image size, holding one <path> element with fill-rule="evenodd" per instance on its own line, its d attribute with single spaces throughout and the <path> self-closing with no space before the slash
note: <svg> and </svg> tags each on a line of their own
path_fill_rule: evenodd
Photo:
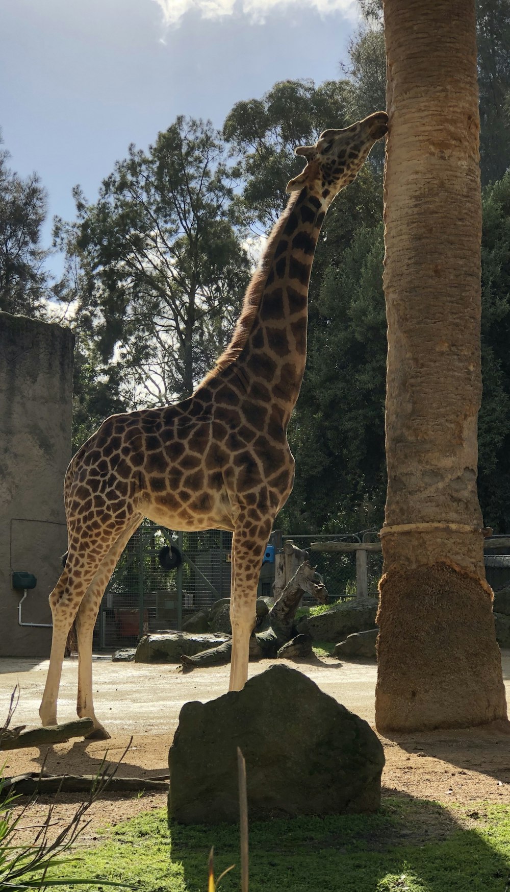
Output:
<svg viewBox="0 0 510 892">
<path fill-rule="evenodd" d="M 308 560 L 298 567 L 290 582 L 287 582 L 280 597 L 276 600 L 269 613 L 255 626 L 255 632 L 250 640 L 250 657 L 276 657 L 280 648 L 284 647 L 297 635 L 294 626 L 294 617 L 300 603 L 300 599 L 307 593 L 315 598 L 319 604 L 326 604 L 328 594 L 323 582 L 317 577 L 315 567 L 310 566 Z M 193 657 L 181 657 L 184 669 L 193 669 L 197 666 L 221 665 L 228 663 L 232 652 L 232 641 L 226 641 L 218 648 L 202 650 Z"/>
</svg>

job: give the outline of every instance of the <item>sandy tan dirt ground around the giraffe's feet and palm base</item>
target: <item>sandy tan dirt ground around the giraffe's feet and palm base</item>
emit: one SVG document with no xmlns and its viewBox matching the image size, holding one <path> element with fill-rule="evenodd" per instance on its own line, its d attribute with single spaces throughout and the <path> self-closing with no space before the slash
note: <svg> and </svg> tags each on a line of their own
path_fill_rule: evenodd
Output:
<svg viewBox="0 0 510 892">
<path fill-rule="evenodd" d="M 285 661 L 317 682 L 330 694 L 374 726 L 374 663 L 339 663 L 332 658 Z M 16 684 L 21 690 L 14 725 L 37 725 L 37 709 L 44 688 L 47 661 L 0 660 L 0 715 L 6 714 Z M 251 664 L 250 674 L 262 672 L 271 661 Z M 66 660 L 62 672 L 59 721 L 74 718 L 76 660 Z M 103 756 L 118 761 L 130 737 L 131 747 L 119 774 L 124 777 L 157 778 L 168 773 L 169 745 L 177 728 L 181 706 L 188 700 L 206 701 L 227 690 L 228 666 L 214 666 L 182 673 L 174 665 L 140 665 L 95 660 L 95 708 L 111 732 L 106 741 L 59 744 L 44 751 L 39 748 L 5 752 L 6 776 L 38 772 L 45 758 L 45 771 L 53 774 L 92 774 Z M 510 651 L 503 653 L 503 673 L 510 702 Z M 437 799 L 443 803 L 468 804 L 474 801 L 510 803 L 510 736 L 502 731 L 435 731 L 381 738 L 386 756 L 382 772 L 383 795 L 407 794 Z M 30 806 L 30 824 L 47 814 L 55 804 L 55 827 L 62 826 L 83 797 L 60 795 L 41 797 Z M 146 792 L 105 794 L 93 805 L 91 824 L 81 838 L 87 845 L 95 829 L 117 823 L 141 811 L 166 805 L 166 796 Z"/>
</svg>

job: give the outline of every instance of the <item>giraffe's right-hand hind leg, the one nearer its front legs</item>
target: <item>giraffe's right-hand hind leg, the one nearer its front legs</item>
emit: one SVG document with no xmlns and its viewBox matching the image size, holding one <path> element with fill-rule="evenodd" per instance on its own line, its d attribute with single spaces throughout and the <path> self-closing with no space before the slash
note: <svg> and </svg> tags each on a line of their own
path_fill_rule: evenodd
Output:
<svg viewBox="0 0 510 892">
<path fill-rule="evenodd" d="M 88 586 L 85 596 L 78 607 L 76 615 L 76 628 L 78 632 L 78 700 L 76 710 L 80 718 L 91 718 L 94 722 L 94 730 L 87 735 L 89 739 L 105 740 L 110 737 L 108 731 L 103 728 L 101 722 L 95 716 L 92 688 L 92 636 L 94 634 L 95 620 L 103 599 L 103 594 L 111 574 L 117 565 L 122 551 L 127 542 L 135 533 L 142 521 L 142 515 L 133 517 L 127 530 L 119 536 L 119 539 L 111 546 L 108 554 L 97 570 L 94 579 Z"/>
</svg>

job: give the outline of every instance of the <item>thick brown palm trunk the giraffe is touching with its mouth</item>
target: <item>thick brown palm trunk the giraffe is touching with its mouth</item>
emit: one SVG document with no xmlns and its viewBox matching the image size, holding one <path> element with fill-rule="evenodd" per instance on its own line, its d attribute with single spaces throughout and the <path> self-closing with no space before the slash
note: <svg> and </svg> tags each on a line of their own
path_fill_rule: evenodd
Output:
<svg viewBox="0 0 510 892">
<path fill-rule="evenodd" d="M 506 718 L 476 490 L 481 188 L 474 0 L 384 0 L 390 128 L 380 731 Z"/>
</svg>

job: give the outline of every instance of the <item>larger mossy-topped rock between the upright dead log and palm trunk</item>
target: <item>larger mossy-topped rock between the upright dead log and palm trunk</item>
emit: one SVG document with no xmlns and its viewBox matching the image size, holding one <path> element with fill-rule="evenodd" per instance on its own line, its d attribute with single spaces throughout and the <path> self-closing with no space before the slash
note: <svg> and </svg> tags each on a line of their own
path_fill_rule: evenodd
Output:
<svg viewBox="0 0 510 892">
<path fill-rule="evenodd" d="M 296 629 L 308 632 L 314 641 L 343 641 L 353 632 L 374 628 L 377 605 L 376 598 L 341 601 L 318 616 L 303 616 Z"/>
</svg>

